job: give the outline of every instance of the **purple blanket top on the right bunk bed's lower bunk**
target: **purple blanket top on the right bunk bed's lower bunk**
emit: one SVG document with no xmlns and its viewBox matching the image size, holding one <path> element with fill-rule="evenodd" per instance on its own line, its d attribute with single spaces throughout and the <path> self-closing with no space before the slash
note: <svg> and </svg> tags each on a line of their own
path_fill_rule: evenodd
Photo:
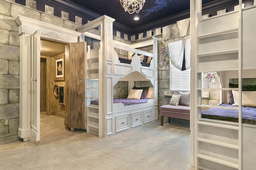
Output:
<svg viewBox="0 0 256 170">
<path fill-rule="evenodd" d="M 238 107 L 228 103 L 222 103 L 219 106 Z M 203 115 L 238 118 L 238 110 L 210 108 L 202 111 L 202 117 Z M 242 119 L 256 121 L 256 107 L 242 106 Z"/>
</svg>

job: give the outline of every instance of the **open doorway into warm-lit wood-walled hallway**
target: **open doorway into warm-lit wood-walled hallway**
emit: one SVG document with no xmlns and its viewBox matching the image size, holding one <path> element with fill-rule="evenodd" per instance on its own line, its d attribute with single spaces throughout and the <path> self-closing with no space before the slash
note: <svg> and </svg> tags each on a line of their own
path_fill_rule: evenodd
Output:
<svg viewBox="0 0 256 170">
<path fill-rule="evenodd" d="M 49 129 L 64 127 L 65 106 L 59 104 L 59 96 L 54 95 L 54 87 L 65 85 L 65 79 L 56 81 L 56 56 L 65 54 L 65 43 L 41 39 L 40 41 L 40 129 L 41 136 Z M 64 65 L 62 66 L 64 67 Z M 55 92 L 58 88 L 55 88 Z M 45 131 L 44 129 L 48 130 Z"/>
</svg>

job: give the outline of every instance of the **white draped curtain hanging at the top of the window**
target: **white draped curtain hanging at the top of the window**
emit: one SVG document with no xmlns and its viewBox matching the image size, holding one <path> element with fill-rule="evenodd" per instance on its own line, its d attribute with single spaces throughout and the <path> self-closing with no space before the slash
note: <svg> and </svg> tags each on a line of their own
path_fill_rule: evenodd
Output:
<svg viewBox="0 0 256 170">
<path fill-rule="evenodd" d="M 174 67 L 182 70 L 182 63 L 185 59 L 186 69 L 190 69 L 190 39 L 168 43 L 168 48 L 170 60 Z"/>
</svg>

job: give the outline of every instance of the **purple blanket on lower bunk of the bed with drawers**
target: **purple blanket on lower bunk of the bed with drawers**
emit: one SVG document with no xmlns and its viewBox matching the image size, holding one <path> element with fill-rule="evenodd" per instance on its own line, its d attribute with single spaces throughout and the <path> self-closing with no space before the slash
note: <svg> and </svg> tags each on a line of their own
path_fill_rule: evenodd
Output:
<svg viewBox="0 0 256 170">
<path fill-rule="evenodd" d="M 98 100 L 92 100 L 91 105 L 99 105 Z M 129 105 L 137 105 L 141 103 L 147 103 L 148 99 L 124 99 L 124 98 L 118 98 L 113 99 L 113 103 L 122 103 L 125 106 Z"/>
</svg>

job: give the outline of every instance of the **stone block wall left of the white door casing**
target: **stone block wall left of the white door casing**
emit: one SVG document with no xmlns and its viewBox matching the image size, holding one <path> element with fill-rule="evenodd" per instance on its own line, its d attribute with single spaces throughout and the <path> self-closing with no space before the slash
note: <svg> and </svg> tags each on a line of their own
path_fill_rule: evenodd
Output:
<svg viewBox="0 0 256 170">
<path fill-rule="evenodd" d="M 0 144 L 18 140 L 19 128 L 20 37 L 11 4 L 0 0 Z"/>
</svg>

